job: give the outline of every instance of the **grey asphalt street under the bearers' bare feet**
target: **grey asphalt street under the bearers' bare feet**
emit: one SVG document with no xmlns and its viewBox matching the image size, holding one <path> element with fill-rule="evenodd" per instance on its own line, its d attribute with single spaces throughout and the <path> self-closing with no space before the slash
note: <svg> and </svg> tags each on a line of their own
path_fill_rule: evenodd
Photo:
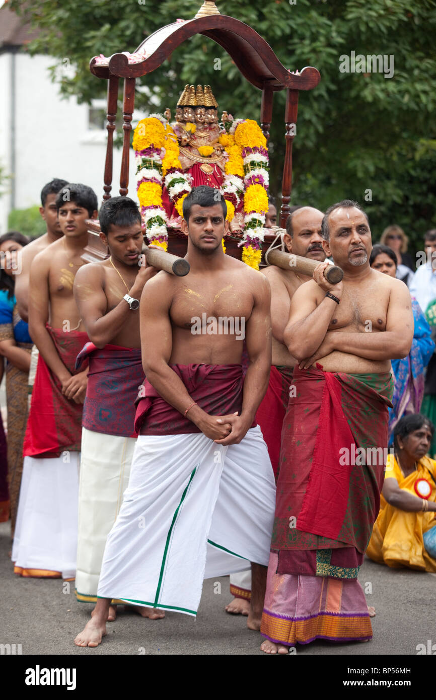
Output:
<svg viewBox="0 0 436 700">
<path fill-rule="evenodd" d="M 197 620 L 176 612 L 166 619 L 141 619 L 122 612 L 108 624 L 108 635 L 95 650 L 73 645 L 87 621 L 90 606 L 64 593 L 62 580 L 20 579 L 8 559 L 9 524 L 0 524 L 0 643 L 21 644 L 22 654 L 261 654 L 260 634 L 246 629 L 241 617 L 227 615 L 228 578 L 204 582 Z M 377 609 L 370 643 L 297 646 L 297 654 L 416 654 L 416 645 L 436 643 L 433 574 L 391 570 L 365 561 L 360 583 L 370 590 L 367 601 Z M 370 585 L 369 585 L 370 584 Z M 385 660 L 386 663 L 387 660 Z M 395 665 L 395 664 L 394 664 Z"/>
</svg>

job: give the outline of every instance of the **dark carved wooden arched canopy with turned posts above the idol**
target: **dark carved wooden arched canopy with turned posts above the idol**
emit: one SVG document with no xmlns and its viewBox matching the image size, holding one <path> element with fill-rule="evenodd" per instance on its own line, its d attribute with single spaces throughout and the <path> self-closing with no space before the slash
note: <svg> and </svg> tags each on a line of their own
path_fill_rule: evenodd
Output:
<svg viewBox="0 0 436 700">
<path fill-rule="evenodd" d="M 148 36 L 135 52 L 145 51 L 148 56 L 137 63 L 129 63 L 126 55 L 115 53 L 108 66 L 90 62 L 91 72 L 98 78 L 108 80 L 108 146 L 104 173 L 104 199 L 111 197 L 113 131 L 117 109 L 118 80 L 124 78 L 122 164 L 120 173 L 120 195 L 127 195 L 129 183 L 129 141 L 134 110 L 135 79 L 159 68 L 171 53 L 195 34 L 203 34 L 222 46 L 230 55 L 241 74 L 252 85 L 262 90 L 260 124 L 265 137 L 269 138 L 272 121 L 273 94 L 286 89 L 286 153 L 283 167 L 282 206 L 280 222 L 284 226 L 289 213 L 292 186 L 292 144 L 297 123 L 298 92 L 312 90 L 321 78 L 313 67 L 301 73 L 290 73 L 276 57 L 274 51 L 257 31 L 244 22 L 227 15 L 209 15 L 185 22 L 174 22 L 157 29 Z"/>
</svg>

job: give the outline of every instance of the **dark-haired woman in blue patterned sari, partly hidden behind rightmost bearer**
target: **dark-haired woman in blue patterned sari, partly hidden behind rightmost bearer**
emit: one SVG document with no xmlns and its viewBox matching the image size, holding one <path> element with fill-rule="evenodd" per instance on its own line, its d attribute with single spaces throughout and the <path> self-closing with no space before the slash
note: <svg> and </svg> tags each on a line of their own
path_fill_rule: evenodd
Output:
<svg viewBox="0 0 436 700">
<path fill-rule="evenodd" d="M 379 272 L 395 277 L 397 256 L 388 246 L 377 245 L 372 248 L 370 265 Z M 400 418 L 408 413 L 419 413 L 421 410 L 424 370 L 435 349 L 430 326 L 414 297 L 412 297 L 412 311 L 415 321 L 412 348 L 407 357 L 391 361 L 395 375 L 395 388 L 393 408 L 389 409 L 389 444 L 393 442 L 393 429 Z"/>
</svg>

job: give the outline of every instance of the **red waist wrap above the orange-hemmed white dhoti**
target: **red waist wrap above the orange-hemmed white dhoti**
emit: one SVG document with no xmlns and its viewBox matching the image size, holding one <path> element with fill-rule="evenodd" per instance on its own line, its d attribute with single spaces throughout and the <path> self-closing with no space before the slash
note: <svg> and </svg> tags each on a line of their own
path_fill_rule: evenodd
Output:
<svg viewBox="0 0 436 700">
<path fill-rule="evenodd" d="M 64 332 L 49 325 L 47 330 L 66 369 L 77 374 L 74 365 L 78 352 L 89 340 L 86 333 L 78 330 Z M 24 457 L 59 457 L 63 451 L 80 451 L 82 411 L 83 404 L 62 394 L 59 379 L 40 354 L 24 437 Z"/>
</svg>

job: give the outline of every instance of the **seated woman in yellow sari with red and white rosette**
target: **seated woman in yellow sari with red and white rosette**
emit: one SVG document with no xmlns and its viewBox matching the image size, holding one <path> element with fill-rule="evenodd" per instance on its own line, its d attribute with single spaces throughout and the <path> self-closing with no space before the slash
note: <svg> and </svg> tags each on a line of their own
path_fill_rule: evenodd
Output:
<svg viewBox="0 0 436 700">
<path fill-rule="evenodd" d="M 367 556 L 392 568 L 436 572 L 436 462 L 426 457 L 433 423 L 421 414 L 395 426 L 388 455 L 379 517 Z"/>
</svg>

